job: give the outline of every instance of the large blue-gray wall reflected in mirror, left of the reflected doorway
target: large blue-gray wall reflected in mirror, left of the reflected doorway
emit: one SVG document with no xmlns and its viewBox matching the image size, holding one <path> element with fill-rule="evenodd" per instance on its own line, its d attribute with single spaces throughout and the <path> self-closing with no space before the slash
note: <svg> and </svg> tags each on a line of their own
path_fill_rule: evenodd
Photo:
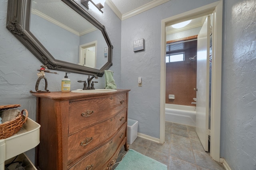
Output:
<svg viewBox="0 0 256 170">
<path fill-rule="evenodd" d="M 78 35 L 35 14 L 30 16 L 30 31 L 55 59 L 79 63 Z"/>
</svg>

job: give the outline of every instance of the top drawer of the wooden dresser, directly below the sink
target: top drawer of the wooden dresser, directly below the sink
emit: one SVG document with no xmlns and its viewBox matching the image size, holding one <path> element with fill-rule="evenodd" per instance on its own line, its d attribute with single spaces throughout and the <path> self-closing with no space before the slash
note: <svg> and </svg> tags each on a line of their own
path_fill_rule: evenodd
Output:
<svg viewBox="0 0 256 170">
<path fill-rule="evenodd" d="M 127 94 L 70 102 L 68 133 L 109 119 L 127 107 Z"/>
</svg>

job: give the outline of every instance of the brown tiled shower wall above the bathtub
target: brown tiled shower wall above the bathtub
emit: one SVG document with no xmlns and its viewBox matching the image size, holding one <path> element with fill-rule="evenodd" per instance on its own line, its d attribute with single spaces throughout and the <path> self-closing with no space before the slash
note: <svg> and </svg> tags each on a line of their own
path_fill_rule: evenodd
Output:
<svg viewBox="0 0 256 170">
<path fill-rule="evenodd" d="M 197 49 L 184 52 L 185 61 L 166 63 L 166 104 L 196 106 L 191 104 L 196 98 L 196 61 L 189 58 L 196 55 Z M 174 94 L 175 99 L 168 99 L 169 94 Z"/>
</svg>

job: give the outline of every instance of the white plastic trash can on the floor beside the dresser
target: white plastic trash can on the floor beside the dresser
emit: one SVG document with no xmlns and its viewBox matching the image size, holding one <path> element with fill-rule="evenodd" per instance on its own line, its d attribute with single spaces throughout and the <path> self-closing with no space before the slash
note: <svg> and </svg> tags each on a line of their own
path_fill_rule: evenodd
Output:
<svg viewBox="0 0 256 170">
<path fill-rule="evenodd" d="M 127 121 L 127 143 L 132 145 L 138 136 L 138 121 L 128 119 Z"/>
</svg>

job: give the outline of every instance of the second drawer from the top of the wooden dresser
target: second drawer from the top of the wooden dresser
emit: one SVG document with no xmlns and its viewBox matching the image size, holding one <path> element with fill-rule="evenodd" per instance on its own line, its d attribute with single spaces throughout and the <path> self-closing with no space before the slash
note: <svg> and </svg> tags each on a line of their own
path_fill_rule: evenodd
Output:
<svg viewBox="0 0 256 170">
<path fill-rule="evenodd" d="M 113 137 L 124 123 L 126 123 L 126 109 L 120 111 L 115 117 L 70 135 L 68 164 Z"/>
</svg>

